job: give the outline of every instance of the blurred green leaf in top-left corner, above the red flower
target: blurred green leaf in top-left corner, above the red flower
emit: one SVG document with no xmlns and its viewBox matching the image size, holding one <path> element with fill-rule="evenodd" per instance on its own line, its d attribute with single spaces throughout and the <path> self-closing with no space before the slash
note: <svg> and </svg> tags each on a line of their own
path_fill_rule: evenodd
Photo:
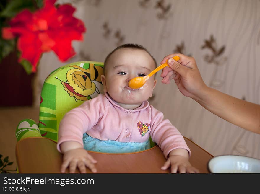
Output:
<svg viewBox="0 0 260 194">
<path fill-rule="evenodd" d="M 12 0 L 9 1 L 5 9 L 0 13 L 1 17 L 14 17 L 22 9 L 35 10 L 33 0 Z"/>
</svg>

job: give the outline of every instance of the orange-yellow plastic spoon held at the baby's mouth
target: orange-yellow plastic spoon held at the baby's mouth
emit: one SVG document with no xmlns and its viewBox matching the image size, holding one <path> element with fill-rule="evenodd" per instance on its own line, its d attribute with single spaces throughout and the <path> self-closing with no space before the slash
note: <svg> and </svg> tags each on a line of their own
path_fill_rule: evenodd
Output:
<svg viewBox="0 0 260 194">
<path fill-rule="evenodd" d="M 173 59 L 175 61 L 178 61 L 180 59 L 179 56 L 174 56 Z M 144 76 L 144 77 L 135 77 L 133 79 L 131 79 L 128 83 L 128 86 L 130 88 L 133 88 L 133 89 L 137 89 L 137 88 L 140 88 L 142 87 L 145 82 L 153 75 L 155 74 L 157 71 L 160 71 L 161 69 L 163 69 L 164 67 L 166 66 L 169 66 L 168 63 L 167 63 L 168 59 L 166 60 L 165 63 L 163 63 L 162 65 L 160 65 L 159 67 L 157 67 L 155 70 L 153 70 L 150 74 L 148 74 L 147 76 Z"/>
</svg>

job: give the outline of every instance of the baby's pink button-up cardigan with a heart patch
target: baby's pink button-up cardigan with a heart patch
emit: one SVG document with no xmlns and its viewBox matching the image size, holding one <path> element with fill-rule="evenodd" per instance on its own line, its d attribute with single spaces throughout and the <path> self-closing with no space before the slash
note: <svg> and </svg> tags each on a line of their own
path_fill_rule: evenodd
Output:
<svg viewBox="0 0 260 194">
<path fill-rule="evenodd" d="M 147 100 L 134 110 L 121 107 L 107 93 L 87 100 L 61 120 L 58 151 L 64 141 L 77 141 L 83 146 L 83 133 L 100 140 L 120 142 L 145 142 L 151 136 L 166 158 L 176 148 L 186 149 L 191 155 L 181 133 Z"/>
</svg>

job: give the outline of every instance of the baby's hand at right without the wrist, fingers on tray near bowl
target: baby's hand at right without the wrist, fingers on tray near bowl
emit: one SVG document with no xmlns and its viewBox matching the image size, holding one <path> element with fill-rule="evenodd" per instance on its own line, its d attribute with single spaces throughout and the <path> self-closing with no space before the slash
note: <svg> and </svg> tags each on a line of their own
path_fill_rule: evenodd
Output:
<svg viewBox="0 0 260 194">
<path fill-rule="evenodd" d="M 169 167 L 171 167 L 171 173 L 199 173 L 199 170 L 191 166 L 189 158 L 185 156 L 169 156 L 161 169 L 166 170 Z"/>
</svg>

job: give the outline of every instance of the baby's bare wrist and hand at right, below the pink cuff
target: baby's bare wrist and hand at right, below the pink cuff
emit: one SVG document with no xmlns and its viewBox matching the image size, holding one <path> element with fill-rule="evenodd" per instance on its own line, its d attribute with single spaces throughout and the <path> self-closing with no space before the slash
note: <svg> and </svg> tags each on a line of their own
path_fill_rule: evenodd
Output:
<svg viewBox="0 0 260 194">
<path fill-rule="evenodd" d="M 171 173 L 199 173 L 199 170 L 191 166 L 189 152 L 183 148 L 176 148 L 170 151 L 167 161 L 161 167 L 166 170 L 171 167 Z"/>
</svg>

